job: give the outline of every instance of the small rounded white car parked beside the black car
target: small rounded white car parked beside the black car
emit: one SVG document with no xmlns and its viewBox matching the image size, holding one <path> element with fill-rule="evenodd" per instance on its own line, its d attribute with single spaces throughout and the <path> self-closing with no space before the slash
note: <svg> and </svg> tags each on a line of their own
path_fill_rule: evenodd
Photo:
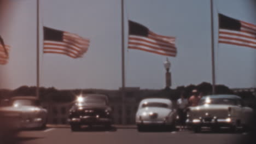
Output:
<svg viewBox="0 0 256 144">
<path fill-rule="evenodd" d="M 144 131 L 149 126 L 172 129 L 175 127 L 176 116 L 171 100 L 147 98 L 139 103 L 135 121 L 138 131 Z"/>
</svg>

